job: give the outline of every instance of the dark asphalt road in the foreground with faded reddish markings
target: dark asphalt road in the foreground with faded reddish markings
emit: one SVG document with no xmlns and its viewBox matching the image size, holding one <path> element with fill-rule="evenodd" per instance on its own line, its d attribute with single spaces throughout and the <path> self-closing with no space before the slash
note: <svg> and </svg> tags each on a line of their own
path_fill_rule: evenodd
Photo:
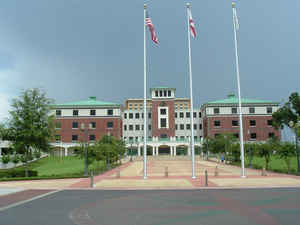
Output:
<svg viewBox="0 0 300 225">
<path fill-rule="evenodd" d="M 66 190 L 0 208 L 0 225 L 294 225 L 299 215 L 294 188 Z"/>
</svg>

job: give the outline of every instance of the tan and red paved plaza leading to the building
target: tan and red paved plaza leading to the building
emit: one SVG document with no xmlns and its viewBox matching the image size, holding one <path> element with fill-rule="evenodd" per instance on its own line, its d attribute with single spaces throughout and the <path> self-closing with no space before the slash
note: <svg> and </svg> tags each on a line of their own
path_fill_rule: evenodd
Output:
<svg viewBox="0 0 300 225">
<path fill-rule="evenodd" d="M 241 178 L 241 168 L 197 158 L 196 179 L 191 178 L 191 160 L 182 157 L 149 157 L 148 177 L 143 179 L 143 161 L 124 163 L 94 177 L 94 189 L 201 189 L 247 187 L 300 187 L 300 177 L 247 169 L 247 178 Z M 166 177 L 166 169 L 168 177 Z M 120 171 L 120 172 L 118 172 Z M 208 186 L 205 185 L 208 172 Z M 120 177 L 118 176 L 120 174 Z M 89 178 L 0 182 L 4 189 L 81 189 L 90 188 Z M 0 192 L 1 193 L 1 192 Z"/>
</svg>

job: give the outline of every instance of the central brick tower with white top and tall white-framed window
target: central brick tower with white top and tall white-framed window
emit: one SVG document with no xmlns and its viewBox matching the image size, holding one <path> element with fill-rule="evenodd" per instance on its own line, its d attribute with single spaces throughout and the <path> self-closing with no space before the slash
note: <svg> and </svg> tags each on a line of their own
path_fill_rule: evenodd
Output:
<svg viewBox="0 0 300 225">
<path fill-rule="evenodd" d="M 152 136 L 170 138 L 175 136 L 174 99 L 175 88 L 151 88 Z"/>
</svg>

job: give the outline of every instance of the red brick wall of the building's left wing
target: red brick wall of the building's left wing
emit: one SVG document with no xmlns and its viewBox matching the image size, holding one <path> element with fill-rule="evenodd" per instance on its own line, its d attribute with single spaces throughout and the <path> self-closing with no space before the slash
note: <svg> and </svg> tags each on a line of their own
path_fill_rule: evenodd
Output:
<svg viewBox="0 0 300 225">
<path fill-rule="evenodd" d="M 58 118 L 56 121 L 61 122 L 61 129 L 56 130 L 56 134 L 61 135 L 63 142 L 72 142 L 72 135 L 78 135 L 78 141 L 85 141 L 86 137 L 80 131 L 80 124 L 85 123 L 85 127 L 88 128 L 90 122 L 96 122 L 96 128 L 89 129 L 88 134 L 94 134 L 96 140 L 108 133 L 115 138 L 122 136 L 120 118 Z M 107 128 L 107 122 L 110 121 L 113 122 L 113 128 Z M 72 129 L 73 122 L 78 122 L 78 129 Z"/>
</svg>

